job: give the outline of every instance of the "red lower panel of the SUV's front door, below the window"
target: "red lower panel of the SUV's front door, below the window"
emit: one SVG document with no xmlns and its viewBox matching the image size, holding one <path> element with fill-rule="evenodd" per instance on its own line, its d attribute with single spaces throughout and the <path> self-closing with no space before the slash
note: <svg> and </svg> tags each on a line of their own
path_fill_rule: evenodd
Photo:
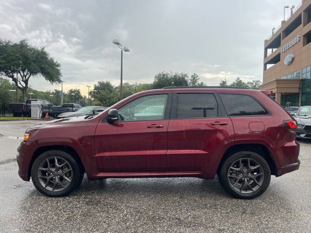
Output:
<svg viewBox="0 0 311 233">
<path fill-rule="evenodd" d="M 150 125 L 163 125 L 150 128 Z M 95 133 L 100 171 L 167 171 L 169 120 L 100 123 Z"/>
</svg>

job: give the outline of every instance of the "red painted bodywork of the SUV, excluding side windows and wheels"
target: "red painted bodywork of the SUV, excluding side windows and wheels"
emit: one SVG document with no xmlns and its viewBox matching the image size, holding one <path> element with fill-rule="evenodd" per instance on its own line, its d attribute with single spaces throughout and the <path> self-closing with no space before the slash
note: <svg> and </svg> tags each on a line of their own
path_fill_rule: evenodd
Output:
<svg viewBox="0 0 311 233">
<path fill-rule="evenodd" d="M 299 168 L 299 144 L 283 121 L 294 120 L 261 91 L 245 89 L 161 89 L 135 94 L 111 108 L 154 94 L 214 93 L 219 113 L 214 118 L 176 119 L 170 115 L 175 99 L 162 120 L 107 123 L 109 109 L 93 119 L 84 117 L 50 121 L 29 128 L 27 142 L 18 147 L 18 174 L 30 179 L 36 156 L 45 150 L 66 150 L 81 160 L 88 179 L 109 177 L 177 177 L 213 179 L 226 151 L 237 146 L 264 148 L 277 176 Z M 218 93 L 250 95 L 268 111 L 265 116 L 227 116 Z"/>
</svg>

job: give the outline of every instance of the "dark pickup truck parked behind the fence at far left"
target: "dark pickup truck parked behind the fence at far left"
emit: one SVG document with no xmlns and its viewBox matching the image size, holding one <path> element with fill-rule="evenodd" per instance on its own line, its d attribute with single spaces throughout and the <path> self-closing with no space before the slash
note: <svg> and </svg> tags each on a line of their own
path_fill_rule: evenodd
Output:
<svg viewBox="0 0 311 233">
<path fill-rule="evenodd" d="M 25 103 L 12 102 L 8 104 L 8 109 L 13 116 L 31 116 L 31 104 L 39 103 L 42 105 L 52 105 L 48 100 L 29 99 Z"/>
</svg>

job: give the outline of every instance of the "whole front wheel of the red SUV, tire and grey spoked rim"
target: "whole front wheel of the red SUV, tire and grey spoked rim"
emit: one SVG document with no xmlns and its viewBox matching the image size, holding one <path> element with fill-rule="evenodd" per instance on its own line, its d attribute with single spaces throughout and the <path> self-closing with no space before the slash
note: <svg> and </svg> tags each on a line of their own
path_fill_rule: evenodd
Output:
<svg viewBox="0 0 311 233">
<path fill-rule="evenodd" d="M 64 197 L 82 182 L 84 172 L 75 159 L 62 150 L 49 150 L 40 154 L 31 169 L 36 189 L 50 197 Z"/>
</svg>

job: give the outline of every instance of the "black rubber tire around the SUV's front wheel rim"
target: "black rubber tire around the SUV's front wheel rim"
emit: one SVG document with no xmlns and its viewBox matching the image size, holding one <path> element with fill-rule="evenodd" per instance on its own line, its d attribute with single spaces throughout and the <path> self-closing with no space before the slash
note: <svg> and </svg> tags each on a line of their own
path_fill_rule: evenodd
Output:
<svg viewBox="0 0 311 233">
<path fill-rule="evenodd" d="M 67 183 L 68 186 L 62 187 L 62 186 L 60 186 L 60 183 L 55 185 L 56 187 L 58 185 L 59 189 L 64 188 L 64 189 L 59 190 L 59 191 L 57 191 L 57 190 L 49 190 L 48 188 L 51 189 L 51 187 L 49 187 L 49 186 L 47 188 L 45 188 L 43 186 L 42 182 L 43 181 L 48 181 L 48 179 L 47 178 L 42 179 L 42 177 L 40 177 L 40 176 L 38 177 L 38 173 L 42 172 L 42 167 L 39 169 L 39 166 L 42 165 L 42 163 L 44 163 L 47 160 L 52 161 L 52 159 L 54 159 L 55 157 L 59 161 L 66 161 L 67 165 L 65 165 L 65 166 L 71 168 L 71 170 L 70 170 L 70 177 L 69 177 L 69 179 L 71 181 L 70 181 L 70 183 Z M 50 164 L 49 164 L 49 166 L 50 166 Z M 51 166 L 52 166 L 52 164 L 51 164 Z M 52 174 L 53 171 L 51 169 L 48 169 L 48 168 L 44 168 L 44 169 L 47 169 L 47 171 L 43 171 L 43 173 L 51 172 L 51 174 L 49 174 L 49 176 L 53 176 L 52 179 L 55 179 L 56 175 L 54 176 Z M 59 169 L 61 169 L 61 168 L 59 168 Z M 63 174 L 63 173 L 60 173 L 60 174 Z M 58 176 L 58 177 L 60 177 L 60 176 Z M 77 189 L 80 186 L 80 184 L 81 184 L 81 182 L 83 180 L 83 177 L 84 177 L 84 170 L 83 170 L 83 168 L 78 165 L 77 161 L 69 153 L 67 153 L 65 151 L 62 151 L 62 150 L 49 150 L 49 151 L 43 152 L 42 154 L 40 154 L 35 159 L 35 162 L 34 162 L 34 164 L 32 166 L 32 169 L 31 169 L 31 178 L 32 178 L 32 181 L 33 181 L 33 183 L 35 185 L 35 188 L 40 193 L 42 193 L 42 194 L 44 194 L 46 196 L 49 196 L 49 197 L 64 197 L 64 196 L 69 195 L 72 191 L 74 191 L 75 189 Z M 52 185 L 52 181 L 53 181 L 52 179 L 49 179 L 50 182 L 51 182 L 50 183 L 51 185 Z M 60 180 L 60 178 L 57 178 L 57 177 L 56 177 L 56 179 L 57 179 L 57 181 L 58 181 L 58 179 Z M 64 183 L 65 182 L 66 181 L 64 180 Z M 47 182 L 47 183 L 49 183 L 49 182 Z"/>
</svg>

